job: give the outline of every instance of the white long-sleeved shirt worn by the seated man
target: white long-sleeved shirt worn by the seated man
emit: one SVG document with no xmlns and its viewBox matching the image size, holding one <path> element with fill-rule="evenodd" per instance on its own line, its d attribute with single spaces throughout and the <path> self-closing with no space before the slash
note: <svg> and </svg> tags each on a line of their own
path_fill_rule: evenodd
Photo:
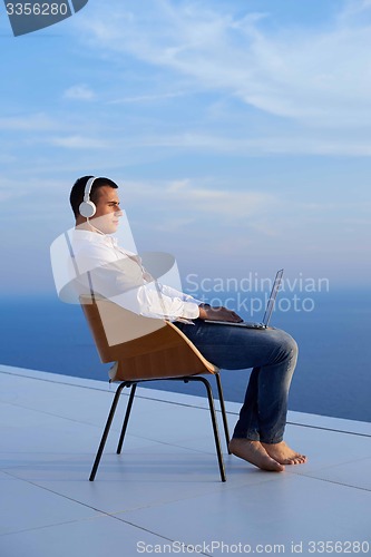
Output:
<svg viewBox="0 0 371 557">
<path fill-rule="evenodd" d="M 198 317 L 199 300 L 159 284 L 143 267 L 140 257 L 119 247 L 116 238 L 75 229 L 70 240 L 79 294 L 100 294 L 147 317 Z"/>
</svg>

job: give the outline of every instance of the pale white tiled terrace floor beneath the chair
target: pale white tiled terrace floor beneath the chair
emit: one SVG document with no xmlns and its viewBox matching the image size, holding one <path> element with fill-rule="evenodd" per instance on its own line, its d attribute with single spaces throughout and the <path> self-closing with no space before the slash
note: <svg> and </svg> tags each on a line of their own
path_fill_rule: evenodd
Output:
<svg viewBox="0 0 371 557">
<path fill-rule="evenodd" d="M 270 473 L 225 453 L 222 483 L 206 401 L 138 389 L 123 455 L 121 411 L 89 482 L 113 394 L 0 365 L 0 557 L 313 555 L 311 541 L 336 540 L 371 555 L 370 423 L 292 412 L 286 440 L 310 461 Z M 238 405 L 227 411 L 232 430 Z"/>
</svg>

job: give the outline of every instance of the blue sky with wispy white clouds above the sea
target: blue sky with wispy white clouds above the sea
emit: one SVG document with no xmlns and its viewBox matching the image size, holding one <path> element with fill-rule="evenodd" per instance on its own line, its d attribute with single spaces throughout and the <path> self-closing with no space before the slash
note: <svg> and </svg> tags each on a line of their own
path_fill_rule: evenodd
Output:
<svg viewBox="0 0 371 557">
<path fill-rule="evenodd" d="M 0 41 L 3 293 L 53 292 L 84 175 L 184 282 L 369 286 L 370 0 L 89 0 L 21 37 L 1 4 Z"/>
</svg>

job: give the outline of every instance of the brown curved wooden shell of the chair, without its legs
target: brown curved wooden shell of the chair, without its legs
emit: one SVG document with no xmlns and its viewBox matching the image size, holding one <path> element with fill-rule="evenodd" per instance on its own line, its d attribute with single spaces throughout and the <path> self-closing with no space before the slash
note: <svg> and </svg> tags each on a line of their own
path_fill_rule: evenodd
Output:
<svg viewBox="0 0 371 557">
<path fill-rule="evenodd" d="M 114 381 L 215 373 L 196 346 L 173 323 L 137 315 L 105 299 L 80 296 L 102 362 L 117 362 Z"/>
</svg>

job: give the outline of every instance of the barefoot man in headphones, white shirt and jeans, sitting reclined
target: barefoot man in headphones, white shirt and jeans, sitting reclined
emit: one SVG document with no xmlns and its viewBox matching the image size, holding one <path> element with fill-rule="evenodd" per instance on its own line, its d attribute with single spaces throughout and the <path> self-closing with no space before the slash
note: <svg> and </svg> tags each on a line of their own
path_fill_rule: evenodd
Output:
<svg viewBox="0 0 371 557">
<path fill-rule="evenodd" d="M 118 186 L 85 176 L 71 190 L 76 217 L 74 250 L 79 268 L 89 271 L 89 287 L 146 316 L 169 319 L 203 355 L 221 369 L 253 368 L 230 450 L 263 470 L 283 471 L 306 457 L 283 441 L 287 398 L 297 358 L 295 341 L 277 329 L 231 326 L 242 319 L 226 307 L 212 307 L 167 285 L 158 285 L 133 252 L 110 236 L 123 212 Z M 92 278 L 91 278 L 92 276 Z M 214 325 L 205 320 L 225 321 Z"/>
</svg>

